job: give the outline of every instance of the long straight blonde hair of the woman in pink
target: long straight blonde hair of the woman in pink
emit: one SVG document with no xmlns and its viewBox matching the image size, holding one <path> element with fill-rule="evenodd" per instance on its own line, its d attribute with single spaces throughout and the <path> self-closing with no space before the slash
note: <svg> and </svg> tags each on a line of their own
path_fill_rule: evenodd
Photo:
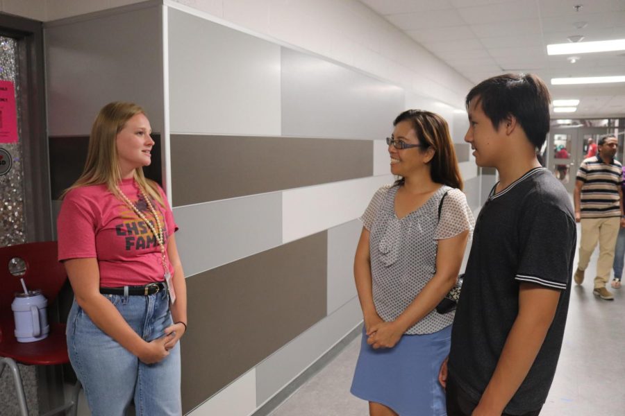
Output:
<svg viewBox="0 0 625 416">
<path fill-rule="evenodd" d="M 108 191 L 121 199 L 117 186 L 122 183 L 122 173 L 119 169 L 115 142 L 126 122 L 137 114 L 145 114 L 145 111 L 134 103 L 115 101 L 102 107 L 91 128 L 87 161 L 83 173 L 71 187 L 65 189 L 63 196 L 74 188 L 106 184 Z M 142 168 L 135 168 L 133 177 L 139 187 L 149 196 L 156 199 L 160 205 L 165 205 L 158 191 L 158 185 L 143 175 Z"/>
</svg>

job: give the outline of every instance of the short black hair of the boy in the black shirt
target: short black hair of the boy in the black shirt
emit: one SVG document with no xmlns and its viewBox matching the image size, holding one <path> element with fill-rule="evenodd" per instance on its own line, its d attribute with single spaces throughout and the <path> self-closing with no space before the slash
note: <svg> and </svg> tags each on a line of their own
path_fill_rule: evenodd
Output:
<svg viewBox="0 0 625 416">
<path fill-rule="evenodd" d="M 541 148 L 549 132 L 551 95 L 544 82 L 532 73 L 506 73 L 483 80 L 469 91 L 465 105 L 474 99 L 494 128 L 514 116 L 527 138 Z"/>
</svg>

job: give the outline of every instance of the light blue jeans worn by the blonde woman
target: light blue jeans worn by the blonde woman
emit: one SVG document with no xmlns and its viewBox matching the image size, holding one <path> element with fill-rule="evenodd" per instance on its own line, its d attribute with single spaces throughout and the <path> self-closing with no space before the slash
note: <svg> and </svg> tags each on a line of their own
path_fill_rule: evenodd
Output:
<svg viewBox="0 0 625 416">
<path fill-rule="evenodd" d="M 172 324 L 167 292 L 104 296 L 146 341 L 160 338 Z M 93 416 L 122 416 L 133 400 L 138 416 L 182 414 L 179 343 L 163 361 L 142 363 L 101 331 L 74 300 L 67 318 L 67 348 Z"/>
</svg>

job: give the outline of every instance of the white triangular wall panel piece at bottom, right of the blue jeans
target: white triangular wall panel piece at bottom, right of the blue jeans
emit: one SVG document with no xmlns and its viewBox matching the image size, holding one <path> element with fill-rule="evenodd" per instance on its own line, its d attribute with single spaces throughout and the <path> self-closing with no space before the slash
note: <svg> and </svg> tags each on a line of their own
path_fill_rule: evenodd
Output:
<svg viewBox="0 0 625 416">
<path fill-rule="evenodd" d="M 243 374 L 188 416 L 247 416 L 256 410 L 256 369 Z"/>
</svg>

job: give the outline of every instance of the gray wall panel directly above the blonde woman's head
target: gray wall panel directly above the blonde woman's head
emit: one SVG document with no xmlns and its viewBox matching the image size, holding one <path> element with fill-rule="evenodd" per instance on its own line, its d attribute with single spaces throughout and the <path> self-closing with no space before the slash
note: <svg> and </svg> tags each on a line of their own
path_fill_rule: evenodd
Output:
<svg viewBox="0 0 625 416">
<path fill-rule="evenodd" d="M 49 135 L 88 135 L 110 101 L 133 101 L 163 131 L 160 6 L 47 24 Z"/>
</svg>

